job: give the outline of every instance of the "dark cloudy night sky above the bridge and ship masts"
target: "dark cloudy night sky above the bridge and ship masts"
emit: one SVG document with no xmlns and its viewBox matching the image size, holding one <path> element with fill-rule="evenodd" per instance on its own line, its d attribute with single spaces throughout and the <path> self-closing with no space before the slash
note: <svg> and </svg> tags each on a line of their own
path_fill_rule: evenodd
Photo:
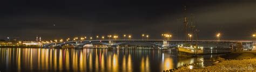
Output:
<svg viewBox="0 0 256 72">
<path fill-rule="evenodd" d="M 142 33 L 160 39 L 165 32 L 184 39 L 183 13 L 194 16 L 200 40 L 248 40 L 256 30 L 255 0 L 4 0 L 0 2 L 0 39 L 32 40 L 83 35 Z M 53 26 L 55 24 L 55 26 Z"/>
</svg>

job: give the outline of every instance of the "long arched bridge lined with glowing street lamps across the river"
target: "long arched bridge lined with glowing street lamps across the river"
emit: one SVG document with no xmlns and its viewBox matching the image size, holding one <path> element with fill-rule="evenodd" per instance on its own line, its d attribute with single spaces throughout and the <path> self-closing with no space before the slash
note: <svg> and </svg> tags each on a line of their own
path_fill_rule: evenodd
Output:
<svg viewBox="0 0 256 72">
<path fill-rule="evenodd" d="M 231 41 L 231 40 L 198 40 L 196 41 L 185 41 L 185 40 L 83 40 L 83 41 L 66 41 L 66 42 L 52 42 L 44 44 L 44 48 L 54 47 L 62 48 L 64 45 L 73 45 L 75 48 L 83 48 L 87 44 L 105 45 L 108 48 L 116 49 L 120 45 L 130 44 L 146 44 L 148 46 L 156 48 L 170 48 L 177 47 L 178 45 L 215 45 L 215 46 L 227 46 L 232 48 L 240 49 L 254 49 L 256 41 Z"/>
</svg>

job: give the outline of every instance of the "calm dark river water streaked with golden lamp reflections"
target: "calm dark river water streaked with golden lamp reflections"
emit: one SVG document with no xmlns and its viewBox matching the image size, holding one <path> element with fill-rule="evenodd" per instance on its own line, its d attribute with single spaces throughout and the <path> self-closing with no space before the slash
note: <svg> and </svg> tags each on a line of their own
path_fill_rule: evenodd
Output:
<svg viewBox="0 0 256 72">
<path fill-rule="evenodd" d="M 210 50 L 207 52 L 219 52 Z M 163 71 L 216 55 L 178 57 L 176 51 L 104 48 L 0 48 L 0 71 Z M 194 67 L 210 66 L 204 61 Z"/>
</svg>

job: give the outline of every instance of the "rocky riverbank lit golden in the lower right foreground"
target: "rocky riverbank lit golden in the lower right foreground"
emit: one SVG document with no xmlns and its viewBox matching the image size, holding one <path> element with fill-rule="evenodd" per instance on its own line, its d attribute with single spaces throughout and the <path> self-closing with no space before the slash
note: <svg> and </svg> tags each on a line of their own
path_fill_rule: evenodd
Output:
<svg viewBox="0 0 256 72">
<path fill-rule="evenodd" d="M 192 65 L 182 66 L 171 71 L 256 71 L 256 52 L 235 52 L 222 55 L 213 66 L 192 68 Z"/>
</svg>

